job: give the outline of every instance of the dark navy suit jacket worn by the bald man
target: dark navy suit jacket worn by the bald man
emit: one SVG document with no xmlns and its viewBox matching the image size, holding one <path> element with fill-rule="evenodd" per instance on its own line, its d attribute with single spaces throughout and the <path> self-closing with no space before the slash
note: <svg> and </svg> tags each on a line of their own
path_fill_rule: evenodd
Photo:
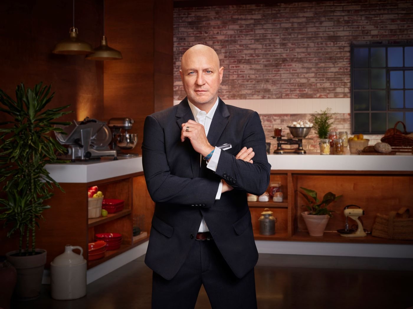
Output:
<svg viewBox="0 0 413 309">
<path fill-rule="evenodd" d="M 228 266 L 242 278 L 258 260 L 247 192 L 262 194 L 270 179 L 261 120 L 256 112 L 219 99 L 207 138 L 214 147 L 225 143 L 232 147 L 221 151 L 213 172 L 200 167 L 199 153 L 188 138 L 180 141 L 181 124 L 189 119 L 194 117 L 187 98 L 145 119 L 142 162 L 155 202 L 145 263 L 172 279 L 196 241 L 203 216 Z M 253 164 L 235 159 L 244 146 L 253 148 Z M 234 190 L 215 200 L 221 178 Z"/>
</svg>

